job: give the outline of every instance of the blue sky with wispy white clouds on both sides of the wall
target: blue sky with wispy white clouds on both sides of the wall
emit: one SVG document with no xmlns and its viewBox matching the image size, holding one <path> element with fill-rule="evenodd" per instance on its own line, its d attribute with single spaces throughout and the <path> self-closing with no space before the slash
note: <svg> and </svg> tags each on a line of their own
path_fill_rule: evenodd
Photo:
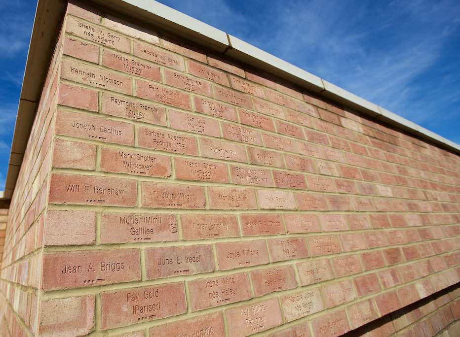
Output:
<svg viewBox="0 0 460 337">
<path fill-rule="evenodd" d="M 460 143 L 458 0 L 160 0 Z M 0 191 L 35 0 L 0 0 Z"/>
</svg>

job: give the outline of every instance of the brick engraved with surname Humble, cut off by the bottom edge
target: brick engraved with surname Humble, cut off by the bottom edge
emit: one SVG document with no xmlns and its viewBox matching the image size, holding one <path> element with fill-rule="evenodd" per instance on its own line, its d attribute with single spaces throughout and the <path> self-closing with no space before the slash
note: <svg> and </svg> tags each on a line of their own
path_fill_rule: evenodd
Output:
<svg viewBox="0 0 460 337">
<path fill-rule="evenodd" d="M 207 334 L 208 336 L 224 336 L 224 319 L 222 313 L 194 317 L 188 320 L 180 320 L 172 323 L 152 327 L 149 330 L 150 336 L 168 336 L 172 332 L 176 336 L 193 336 L 194 334 Z M 144 335 L 143 335 L 144 336 Z"/>
</svg>

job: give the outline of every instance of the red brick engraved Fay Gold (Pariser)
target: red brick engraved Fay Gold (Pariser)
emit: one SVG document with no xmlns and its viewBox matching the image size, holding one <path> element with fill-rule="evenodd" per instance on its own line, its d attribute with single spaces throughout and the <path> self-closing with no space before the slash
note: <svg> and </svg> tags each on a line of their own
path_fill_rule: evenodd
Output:
<svg viewBox="0 0 460 337">
<path fill-rule="evenodd" d="M 182 282 L 101 294 L 103 330 L 176 316 L 186 311 L 187 302 Z"/>
</svg>

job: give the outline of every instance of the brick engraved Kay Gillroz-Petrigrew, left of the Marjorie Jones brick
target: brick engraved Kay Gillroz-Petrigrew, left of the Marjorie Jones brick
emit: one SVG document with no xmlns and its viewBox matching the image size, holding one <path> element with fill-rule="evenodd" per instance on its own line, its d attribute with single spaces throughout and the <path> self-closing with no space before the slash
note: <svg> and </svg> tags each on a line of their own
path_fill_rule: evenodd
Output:
<svg viewBox="0 0 460 337">
<path fill-rule="evenodd" d="M 249 336 L 283 324 L 277 299 L 230 308 L 225 316 L 229 337 Z"/>
</svg>

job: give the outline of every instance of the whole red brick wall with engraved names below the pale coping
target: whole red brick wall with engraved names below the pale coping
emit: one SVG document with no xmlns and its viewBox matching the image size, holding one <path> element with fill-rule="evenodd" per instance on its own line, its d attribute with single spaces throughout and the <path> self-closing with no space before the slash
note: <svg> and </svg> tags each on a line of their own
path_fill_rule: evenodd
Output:
<svg viewBox="0 0 460 337">
<path fill-rule="evenodd" d="M 458 156 L 107 13 L 63 25 L 10 207 L 5 336 L 459 318 Z"/>
</svg>

